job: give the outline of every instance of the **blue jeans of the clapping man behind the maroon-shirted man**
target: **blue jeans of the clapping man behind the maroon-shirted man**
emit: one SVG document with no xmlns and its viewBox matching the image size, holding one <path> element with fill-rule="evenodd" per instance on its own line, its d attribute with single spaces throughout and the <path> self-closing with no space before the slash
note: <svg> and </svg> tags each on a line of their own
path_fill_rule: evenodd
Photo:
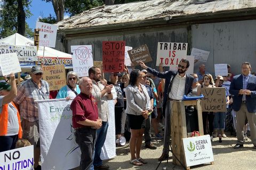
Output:
<svg viewBox="0 0 256 170">
<path fill-rule="evenodd" d="M 95 143 L 95 152 L 94 152 L 94 159 L 93 159 L 93 166 L 100 166 L 102 165 L 102 160 L 100 158 L 101 148 L 104 145 L 106 140 L 108 131 L 108 122 L 102 122 L 102 126 L 100 129 L 97 130 L 97 139 Z"/>
</svg>

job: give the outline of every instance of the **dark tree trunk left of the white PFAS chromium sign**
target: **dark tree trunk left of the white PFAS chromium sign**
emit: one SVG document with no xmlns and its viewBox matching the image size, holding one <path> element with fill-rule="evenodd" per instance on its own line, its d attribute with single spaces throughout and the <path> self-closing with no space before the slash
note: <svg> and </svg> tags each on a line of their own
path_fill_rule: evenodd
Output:
<svg viewBox="0 0 256 170">
<path fill-rule="evenodd" d="M 23 8 L 22 0 L 18 0 L 18 16 L 17 16 L 17 32 L 25 36 L 25 30 L 26 30 L 26 14 Z"/>
</svg>

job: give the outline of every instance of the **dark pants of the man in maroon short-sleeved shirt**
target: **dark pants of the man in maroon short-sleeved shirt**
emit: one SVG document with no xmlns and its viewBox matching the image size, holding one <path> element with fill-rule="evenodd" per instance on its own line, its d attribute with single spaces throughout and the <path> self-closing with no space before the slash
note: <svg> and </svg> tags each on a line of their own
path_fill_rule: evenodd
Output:
<svg viewBox="0 0 256 170">
<path fill-rule="evenodd" d="M 76 143 L 81 150 L 80 170 L 89 170 L 93 163 L 96 130 L 81 128 L 75 131 Z"/>
</svg>

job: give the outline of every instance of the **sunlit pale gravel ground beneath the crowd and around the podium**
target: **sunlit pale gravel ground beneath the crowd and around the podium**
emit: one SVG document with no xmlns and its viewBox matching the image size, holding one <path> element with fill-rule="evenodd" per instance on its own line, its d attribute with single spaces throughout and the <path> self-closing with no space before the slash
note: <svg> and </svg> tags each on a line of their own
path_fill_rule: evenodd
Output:
<svg viewBox="0 0 256 170">
<path fill-rule="evenodd" d="M 228 132 L 226 133 L 228 134 Z M 158 166 L 158 157 L 162 154 L 163 140 L 154 138 L 153 143 L 157 146 L 156 150 L 146 149 L 142 143 L 141 157 L 146 159 L 148 164 L 142 166 L 133 166 L 130 164 L 130 149 L 129 144 L 126 143 L 124 147 L 117 147 L 117 156 L 114 159 L 105 161 L 105 164 L 110 166 L 109 169 L 146 169 L 153 170 Z M 232 146 L 236 144 L 236 138 L 234 136 L 228 138 L 222 138 L 222 143 L 219 143 L 219 138 L 214 138 L 212 142 L 214 164 L 203 164 L 198 166 L 192 166 L 190 169 L 256 169 L 256 149 L 252 148 L 251 140 L 245 142 L 244 148 L 233 149 Z M 181 166 L 175 166 L 172 164 L 172 154 L 170 152 L 169 162 L 165 160 L 157 169 L 163 169 L 166 166 L 167 169 L 183 169 Z"/>
</svg>

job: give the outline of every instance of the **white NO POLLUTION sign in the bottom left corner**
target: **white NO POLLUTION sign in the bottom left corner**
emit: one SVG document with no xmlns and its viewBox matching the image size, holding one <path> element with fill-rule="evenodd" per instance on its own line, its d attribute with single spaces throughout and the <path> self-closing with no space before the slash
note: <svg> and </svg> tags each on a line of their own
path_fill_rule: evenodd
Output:
<svg viewBox="0 0 256 170">
<path fill-rule="evenodd" d="M 0 169 L 34 169 L 34 146 L 0 152 Z"/>
</svg>

